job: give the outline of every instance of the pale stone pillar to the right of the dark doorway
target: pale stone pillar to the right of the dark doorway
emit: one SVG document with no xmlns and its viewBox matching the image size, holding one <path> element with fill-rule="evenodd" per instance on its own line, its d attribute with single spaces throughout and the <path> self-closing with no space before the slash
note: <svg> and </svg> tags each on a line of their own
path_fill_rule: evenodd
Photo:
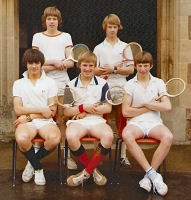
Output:
<svg viewBox="0 0 191 200">
<path fill-rule="evenodd" d="M 159 0 L 158 2 L 158 60 L 157 73 L 164 81 L 180 77 L 187 83 L 187 65 L 190 62 L 191 41 L 188 39 L 188 15 L 191 1 Z M 191 63 L 191 62 L 190 62 Z M 174 143 L 186 144 L 186 124 L 191 107 L 191 88 L 179 97 L 171 98 L 173 110 L 162 113 L 164 123 L 174 135 Z M 190 123 L 191 121 L 189 121 Z M 191 127 L 191 124 L 188 125 Z"/>
</svg>

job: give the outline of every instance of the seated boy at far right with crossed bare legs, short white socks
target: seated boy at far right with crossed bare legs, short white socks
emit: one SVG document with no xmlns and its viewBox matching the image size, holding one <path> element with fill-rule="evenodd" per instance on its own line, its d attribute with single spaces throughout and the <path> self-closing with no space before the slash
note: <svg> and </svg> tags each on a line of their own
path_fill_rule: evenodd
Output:
<svg viewBox="0 0 191 200">
<path fill-rule="evenodd" d="M 129 152 L 146 172 L 139 182 L 140 187 L 150 192 L 153 185 L 154 192 L 164 196 L 168 187 L 156 171 L 170 150 L 173 135 L 162 123 L 160 112 L 169 112 L 171 103 L 165 96 L 164 82 L 150 74 L 152 67 L 153 59 L 150 53 L 143 51 L 135 57 L 137 75 L 125 84 L 127 99 L 122 104 L 122 112 L 124 117 L 130 119 L 123 130 L 122 137 Z M 156 100 L 160 95 L 164 96 Z M 136 143 L 136 139 L 144 137 L 160 140 L 151 164 Z"/>
</svg>

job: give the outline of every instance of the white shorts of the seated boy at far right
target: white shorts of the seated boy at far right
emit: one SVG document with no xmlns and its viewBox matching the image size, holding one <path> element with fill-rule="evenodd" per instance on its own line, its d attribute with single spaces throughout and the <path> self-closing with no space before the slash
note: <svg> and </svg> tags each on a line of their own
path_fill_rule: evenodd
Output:
<svg viewBox="0 0 191 200">
<path fill-rule="evenodd" d="M 134 125 L 139 127 L 143 133 L 144 133 L 144 137 L 149 137 L 149 131 L 153 128 L 155 128 L 156 126 L 159 125 L 163 125 L 162 122 L 133 122 L 133 121 L 127 121 L 127 125 Z"/>
</svg>

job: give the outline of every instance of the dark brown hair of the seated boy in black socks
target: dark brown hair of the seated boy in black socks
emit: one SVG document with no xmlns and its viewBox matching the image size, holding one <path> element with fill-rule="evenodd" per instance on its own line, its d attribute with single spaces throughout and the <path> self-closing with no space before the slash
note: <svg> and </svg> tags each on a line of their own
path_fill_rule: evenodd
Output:
<svg viewBox="0 0 191 200">
<path fill-rule="evenodd" d="M 41 63 L 44 65 L 44 54 L 37 49 L 27 49 L 23 55 L 22 63 L 27 66 L 27 63 Z"/>
</svg>

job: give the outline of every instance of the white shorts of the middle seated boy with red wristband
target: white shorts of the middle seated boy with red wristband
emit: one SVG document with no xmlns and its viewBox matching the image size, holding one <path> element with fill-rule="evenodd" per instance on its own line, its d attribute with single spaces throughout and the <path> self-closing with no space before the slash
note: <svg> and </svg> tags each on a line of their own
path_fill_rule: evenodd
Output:
<svg viewBox="0 0 191 200">
<path fill-rule="evenodd" d="M 66 126 L 68 126 L 72 122 L 79 123 L 82 126 L 86 127 L 88 130 L 90 130 L 91 126 L 95 126 L 100 123 L 106 123 L 106 120 L 103 119 L 101 116 L 90 115 L 90 116 L 86 116 L 83 119 L 68 120 L 66 123 Z"/>
</svg>

